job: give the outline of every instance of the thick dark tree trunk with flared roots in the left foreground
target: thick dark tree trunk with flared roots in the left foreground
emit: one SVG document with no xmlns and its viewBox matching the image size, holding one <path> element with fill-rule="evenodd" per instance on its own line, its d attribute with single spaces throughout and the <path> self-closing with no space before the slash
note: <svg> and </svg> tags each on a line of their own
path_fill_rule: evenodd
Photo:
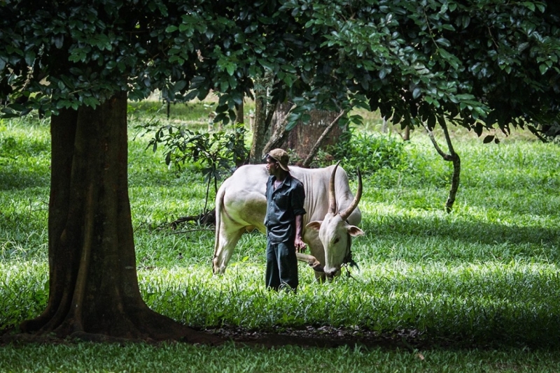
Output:
<svg viewBox="0 0 560 373">
<path fill-rule="evenodd" d="M 127 184 L 127 96 L 52 117 L 49 299 L 24 332 L 214 342 L 142 300 Z"/>
</svg>

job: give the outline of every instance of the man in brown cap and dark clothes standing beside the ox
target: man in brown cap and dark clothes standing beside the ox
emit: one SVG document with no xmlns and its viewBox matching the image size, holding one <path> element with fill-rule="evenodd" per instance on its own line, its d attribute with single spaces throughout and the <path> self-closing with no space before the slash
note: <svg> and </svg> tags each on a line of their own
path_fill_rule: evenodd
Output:
<svg viewBox="0 0 560 373">
<path fill-rule="evenodd" d="M 297 258 L 302 252 L 303 201 L 305 191 L 300 180 L 290 175 L 290 157 L 283 149 L 267 154 L 267 272 L 266 286 L 274 290 L 297 291 Z"/>
</svg>

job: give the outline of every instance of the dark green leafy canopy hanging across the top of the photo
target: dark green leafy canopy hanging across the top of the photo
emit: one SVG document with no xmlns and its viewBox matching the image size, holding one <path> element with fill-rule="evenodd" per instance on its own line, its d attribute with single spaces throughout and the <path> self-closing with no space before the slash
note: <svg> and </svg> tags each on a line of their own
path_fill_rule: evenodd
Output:
<svg viewBox="0 0 560 373">
<path fill-rule="evenodd" d="M 15 101 L 4 115 L 95 106 L 123 89 L 172 100 L 214 89 L 221 120 L 272 73 L 294 120 L 367 105 L 479 135 L 559 122 L 552 0 L 5 0 L 0 12 L 0 96 Z"/>
</svg>

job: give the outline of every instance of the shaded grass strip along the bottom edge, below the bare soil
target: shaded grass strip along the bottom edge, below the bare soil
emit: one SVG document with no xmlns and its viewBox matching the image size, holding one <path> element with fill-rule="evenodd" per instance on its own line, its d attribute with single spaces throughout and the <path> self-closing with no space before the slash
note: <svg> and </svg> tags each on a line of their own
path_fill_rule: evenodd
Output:
<svg viewBox="0 0 560 373">
<path fill-rule="evenodd" d="M 546 351 L 384 351 L 360 347 L 265 349 L 234 344 L 8 346 L 5 372 L 555 372 Z"/>
</svg>

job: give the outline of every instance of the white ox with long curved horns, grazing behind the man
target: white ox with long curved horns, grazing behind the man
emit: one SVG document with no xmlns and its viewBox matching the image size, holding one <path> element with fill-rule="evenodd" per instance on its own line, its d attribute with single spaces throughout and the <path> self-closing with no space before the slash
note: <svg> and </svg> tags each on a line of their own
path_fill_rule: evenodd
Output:
<svg viewBox="0 0 560 373">
<path fill-rule="evenodd" d="M 338 164 L 326 168 L 290 166 L 290 173 L 305 189 L 303 241 L 311 256 L 297 254 L 316 270 L 317 279 L 332 278 L 341 266 L 351 261 L 351 237 L 363 235 L 357 227 L 362 214 L 358 208 L 362 194 L 362 178 L 358 170 L 356 197 L 350 191 L 348 176 Z M 239 237 L 245 231 L 264 225 L 267 201 L 266 182 L 269 174 L 265 165 L 246 165 L 223 182 L 216 194 L 216 243 L 214 273 L 222 274 L 233 254 Z M 264 248 L 263 248 L 264 250 Z"/>
</svg>

